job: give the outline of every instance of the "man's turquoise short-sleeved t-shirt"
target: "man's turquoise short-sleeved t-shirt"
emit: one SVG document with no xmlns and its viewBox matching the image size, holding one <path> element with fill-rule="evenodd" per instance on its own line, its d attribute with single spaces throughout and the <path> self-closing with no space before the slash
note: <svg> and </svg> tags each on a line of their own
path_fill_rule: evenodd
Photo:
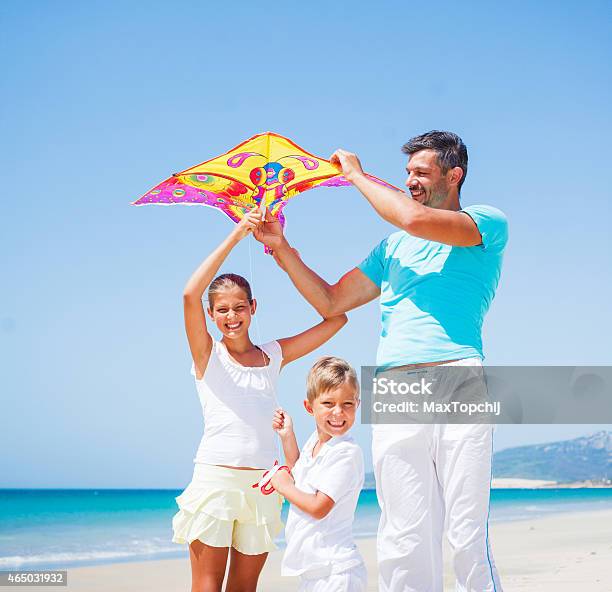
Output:
<svg viewBox="0 0 612 592">
<path fill-rule="evenodd" d="M 486 205 L 461 210 L 482 244 L 453 247 L 395 232 L 358 266 L 380 287 L 380 367 L 480 357 L 482 322 L 499 282 L 508 240 L 504 214 Z"/>
</svg>

